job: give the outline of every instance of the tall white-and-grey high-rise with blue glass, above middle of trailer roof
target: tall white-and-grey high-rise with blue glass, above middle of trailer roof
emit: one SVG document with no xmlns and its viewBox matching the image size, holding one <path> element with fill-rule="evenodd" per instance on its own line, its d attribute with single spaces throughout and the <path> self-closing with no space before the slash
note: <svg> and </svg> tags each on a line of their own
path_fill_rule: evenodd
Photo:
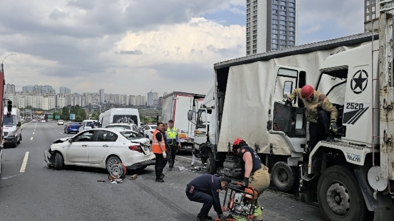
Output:
<svg viewBox="0 0 394 221">
<path fill-rule="evenodd" d="M 246 0 L 246 55 L 298 44 L 298 0 Z"/>
</svg>

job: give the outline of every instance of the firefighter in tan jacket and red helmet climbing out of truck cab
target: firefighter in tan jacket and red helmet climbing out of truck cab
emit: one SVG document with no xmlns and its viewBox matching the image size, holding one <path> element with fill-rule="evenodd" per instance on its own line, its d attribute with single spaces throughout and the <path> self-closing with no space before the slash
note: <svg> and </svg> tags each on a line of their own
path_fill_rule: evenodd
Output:
<svg viewBox="0 0 394 221">
<path fill-rule="evenodd" d="M 302 99 L 305 105 L 305 116 L 309 122 L 310 147 L 313 148 L 321 140 L 334 141 L 333 133 L 338 131 L 336 126 L 338 110 L 327 96 L 314 90 L 312 86 L 305 85 L 294 89 L 285 103 L 290 104 L 296 97 Z"/>
</svg>

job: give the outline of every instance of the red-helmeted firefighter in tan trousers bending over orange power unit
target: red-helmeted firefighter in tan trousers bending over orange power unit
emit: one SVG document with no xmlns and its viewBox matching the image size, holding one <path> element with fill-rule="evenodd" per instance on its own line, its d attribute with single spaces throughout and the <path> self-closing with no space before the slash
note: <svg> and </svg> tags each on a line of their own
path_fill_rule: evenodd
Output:
<svg viewBox="0 0 394 221">
<path fill-rule="evenodd" d="M 232 144 L 232 153 L 239 156 L 241 169 L 244 173 L 242 182 L 243 187 L 252 186 L 257 190 L 258 197 L 269 186 L 268 168 L 261 162 L 256 151 L 247 145 L 241 138 L 236 138 Z M 261 206 L 257 203 L 253 220 L 263 220 Z M 236 217 L 237 221 L 246 220 L 242 217 Z"/>
</svg>

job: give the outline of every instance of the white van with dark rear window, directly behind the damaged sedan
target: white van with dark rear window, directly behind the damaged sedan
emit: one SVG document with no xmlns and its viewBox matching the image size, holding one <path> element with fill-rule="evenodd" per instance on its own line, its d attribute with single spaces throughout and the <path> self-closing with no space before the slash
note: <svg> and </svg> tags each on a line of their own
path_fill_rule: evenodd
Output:
<svg viewBox="0 0 394 221">
<path fill-rule="evenodd" d="M 105 127 L 110 123 L 134 123 L 138 127 L 141 126 L 139 120 L 138 109 L 134 108 L 112 108 L 100 114 L 101 127 Z"/>
</svg>

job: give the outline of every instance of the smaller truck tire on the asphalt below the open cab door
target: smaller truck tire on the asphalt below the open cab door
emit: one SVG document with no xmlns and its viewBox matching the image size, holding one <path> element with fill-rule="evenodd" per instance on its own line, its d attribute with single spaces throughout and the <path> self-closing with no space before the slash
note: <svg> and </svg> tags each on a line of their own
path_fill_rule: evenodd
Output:
<svg viewBox="0 0 394 221">
<path fill-rule="evenodd" d="M 298 168 L 285 162 L 276 162 L 271 169 L 271 180 L 281 192 L 295 190 L 299 186 Z"/>
</svg>

